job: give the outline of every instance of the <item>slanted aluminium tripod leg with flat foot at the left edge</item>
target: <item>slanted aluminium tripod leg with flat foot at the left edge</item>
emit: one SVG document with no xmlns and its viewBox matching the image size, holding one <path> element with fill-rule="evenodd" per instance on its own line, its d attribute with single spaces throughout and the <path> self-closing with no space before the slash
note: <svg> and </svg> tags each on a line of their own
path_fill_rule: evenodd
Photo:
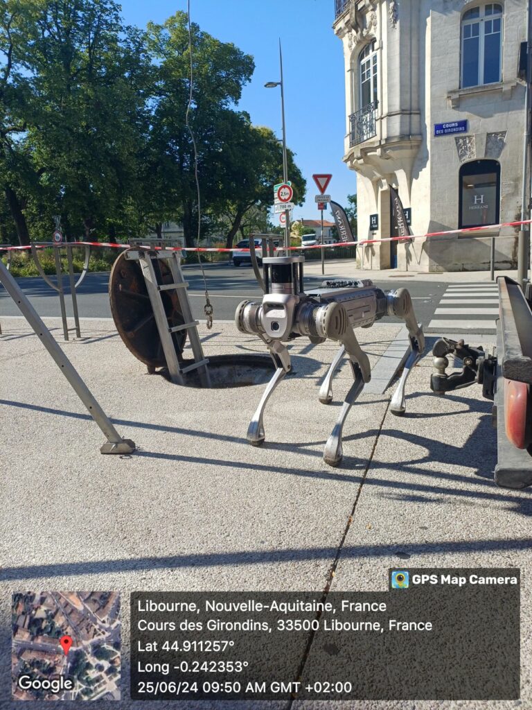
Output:
<svg viewBox="0 0 532 710">
<path fill-rule="evenodd" d="M 109 417 L 107 417 L 104 410 L 94 399 L 91 391 L 84 383 L 82 378 L 77 373 L 70 360 L 67 358 L 65 353 L 62 351 L 59 345 L 53 339 L 52 334 L 45 326 L 35 308 L 31 305 L 26 296 L 22 293 L 21 288 L 14 280 L 13 276 L 7 271 L 4 263 L 0 259 L 0 282 L 4 285 L 7 293 L 11 296 L 13 301 L 18 306 L 22 315 L 26 318 L 28 323 L 31 325 L 35 334 L 40 338 L 40 342 L 43 343 L 45 348 L 48 350 L 50 355 L 60 368 L 60 371 L 65 375 L 70 386 L 74 389 L 82 403 L 87 407 L 89 414 L 92 416 L 96 424 L 100 427 L 101 431 L 104 432 L 104 436 L 107 442 L 101 447 L 100 451 L 102 454 L 131 454 L 135 451 L 135 444 L 131 439 L 123 439 L 116 429 L 111 424 Z"/>
</svg>

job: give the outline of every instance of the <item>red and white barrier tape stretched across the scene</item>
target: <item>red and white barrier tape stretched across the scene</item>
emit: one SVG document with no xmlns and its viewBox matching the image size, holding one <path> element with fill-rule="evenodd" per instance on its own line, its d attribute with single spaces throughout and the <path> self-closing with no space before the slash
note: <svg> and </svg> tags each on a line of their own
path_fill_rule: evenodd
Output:
<svg viewBox="0 0 532 710">
<path fill-rule="evenodd" d="M 412 241 L 414 239 L 426 239 L 432 236 L 447 236 L 450 234 L 468 234 L 470 232 L 486 231 L 488 229 L 500 229 L 503 226 L 519 226 L 521 224 L 532 224 L 532 219 L 524 219 L 519 222 L 501 222 L 501 224 L 487 224 L 485 226 L 470 226 L 466 229 L 448 229 L 447 231 L 431 231 L 426 234 L 413 234 L 411 236 L 388 236 L 382 239 L 361 239 L 360 241 L 337 241 L 334 244 L 324 244 L 327 249 L 335 246 L 367 246 L 367 244 L 379 244 L 383 241 Z M 497 235 L 497 239 L 509 239 L 513 237 L 512 234 L 507 235 Z M 280 237 L 279 237 L 280 239 Z M 65 246 L 64 244 L 35 244 L 37 249 L 47 249 L 50 246 Z M 109 241 L 69 241 L 67 242 L 69 246 L 98 246 L 98 247 L 110 247 L 111 249 L 129 249 L 129 244 L 115 244 Z M 140 245 L 139 245 L 140 246 Z M 306 251 L 307 249 L 321 249 L 321 244 L 312 244 L 311 246 L 289 246 L 290 251 Z M 133 247 L 134 248 L 134 247 Z M 226 249 L 225 247 L 209 247 L 209 246 L 150 246 L 148 244 L 142 246 L 143 249 L 165 249 L 166 251 L 206 251 L 213 253 L 232 253 L 233 251 L 250 251 L 249 249 L 240 249 L 233 246 L 231 249 Z M 26 249 L 31 249 L 31 246 L 0 246 L 0 251 L 24 251 Z M 284 251 L 283 246 L 275 247 L 276 251 Z"/>
</svg>

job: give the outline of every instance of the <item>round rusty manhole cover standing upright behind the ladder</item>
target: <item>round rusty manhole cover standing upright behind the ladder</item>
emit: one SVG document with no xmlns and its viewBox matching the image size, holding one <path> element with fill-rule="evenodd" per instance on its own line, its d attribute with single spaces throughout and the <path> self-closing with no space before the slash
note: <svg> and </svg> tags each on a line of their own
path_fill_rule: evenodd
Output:
<svg viewBox="0 0 532 710">
<path fill-rule="evenodd" d="M 109 278 L 111 314 L 123 342 L 133 355 L 148 368 L 165 367 L 165 354 L 155 324 L 155 316 L 146 290 L 145 280 L 138 261 L 126 259 L 123 251 L 113 263 Z M 172 283 L 172 274 L 164 261 L 153 261 L 158 282 Z M 168 326 L 184 324 L 179 298 L 174 290 L 160 292 Z M 187 331 L 172 334 L 179 359 L 187 339 Z"/>
</svg>

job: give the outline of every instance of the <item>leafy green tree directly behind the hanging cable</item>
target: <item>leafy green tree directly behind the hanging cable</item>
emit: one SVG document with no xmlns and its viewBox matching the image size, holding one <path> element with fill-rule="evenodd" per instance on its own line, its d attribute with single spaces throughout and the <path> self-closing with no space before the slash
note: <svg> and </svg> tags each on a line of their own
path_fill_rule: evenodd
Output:
<svg viewBox="0 0 532 710">
<path fill-rule="evenodd" d="M 194 133 L 203 208 L 223 200 L 231 175 L 223 174 L 221 153 L 228 126 L 235 124 L 232 106 L 254 70 L 253 58 L 223 43 L 192 23 L 192 103 L 189 126 Z M 194 143 L 187 128 L 190 96 L 190 51 L 187 14 L 177 12 L 163 25 L 148 25 L 150 50 L 159 68 L 146 175 L 157 195 L 146 206 L 153 221 L 170 215 L 183 224 L 188 246 L 194 244 L 197 190 Z"/>
</svg>

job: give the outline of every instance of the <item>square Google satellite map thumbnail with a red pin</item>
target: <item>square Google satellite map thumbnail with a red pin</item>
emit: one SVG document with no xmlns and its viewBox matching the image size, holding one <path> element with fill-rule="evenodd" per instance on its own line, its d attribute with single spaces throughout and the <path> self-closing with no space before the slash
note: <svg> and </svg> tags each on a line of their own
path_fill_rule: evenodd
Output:
<svg viewBox="0 0 532 710">
<path fill-rule="evenodd" d="M 120 594 L 17 593 L 11 619 L 14 699 L 120 699 Z"/>
</svg>

